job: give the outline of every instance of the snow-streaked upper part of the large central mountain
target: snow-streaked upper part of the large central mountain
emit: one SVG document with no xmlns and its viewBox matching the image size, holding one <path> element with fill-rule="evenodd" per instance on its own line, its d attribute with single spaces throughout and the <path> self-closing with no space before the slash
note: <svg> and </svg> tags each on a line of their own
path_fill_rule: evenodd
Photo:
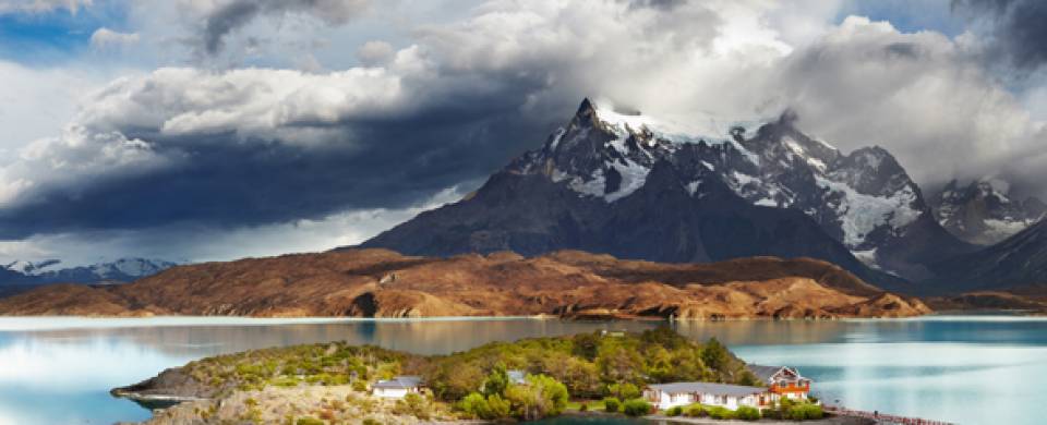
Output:
<svg viewBox="0 0 1047 425">
<path fill-rule="evenodd" d="M 714 173 L 751 204 L 802 210 L 870 266 L 914 279 L 927 275 L 919 262 L 968 247 L 940 229 L 919 187 L 880 147 L 843 154 L 797 130 L 790 113 L 762 125 L 705 117 L 694 122 L 586 100 L 541 149 L 509 169 L 545 173 L 580 196 L 615 203 L 643 185 L 653 163 L 667 160 L 694 182 L 691 193 L 701 174 Z M 917 234 L 926 241 L 911 241 Z"/>
</svg>

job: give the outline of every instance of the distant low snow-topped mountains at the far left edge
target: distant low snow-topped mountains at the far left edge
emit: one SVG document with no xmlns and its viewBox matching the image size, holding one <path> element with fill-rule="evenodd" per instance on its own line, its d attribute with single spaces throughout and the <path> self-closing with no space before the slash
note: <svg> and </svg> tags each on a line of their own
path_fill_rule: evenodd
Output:
<svg viewBox="0 0 1047 425">
<path fill-rule="evenodd" d="M 14 260 L 0 267 L 0 296 L 45 283 L 121 283 L 156 275 L 177 264 L 161 259 L 120 258 L 89 266 L 62 267 L 59 259 Z"/>
</svg>

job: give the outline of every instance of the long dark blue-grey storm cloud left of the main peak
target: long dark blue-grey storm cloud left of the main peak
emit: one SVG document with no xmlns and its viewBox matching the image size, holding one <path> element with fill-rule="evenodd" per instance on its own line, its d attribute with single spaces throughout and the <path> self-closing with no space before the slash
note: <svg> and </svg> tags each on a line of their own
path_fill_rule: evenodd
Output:
<svg viewBox="0 0 1047 425">
<path fill-rule="evenodd" d="M 518 98 L 518 97 L 514 97 Z M 473 99 L 383 121 L 326 130 L 362 143 L 299 146 L 240 141 L 234 134 L 149 139 L 173 167 L 38 193 L 0 212 L 0 238 L 84 229 L 143 229 L 170 223 L 237 228 L 320 219 L 346 208 L 402 208 L 486 175 L 540 144 L 518 105 Z M 478 118 L 479 117 L 479 118 Z"/>
</svg>

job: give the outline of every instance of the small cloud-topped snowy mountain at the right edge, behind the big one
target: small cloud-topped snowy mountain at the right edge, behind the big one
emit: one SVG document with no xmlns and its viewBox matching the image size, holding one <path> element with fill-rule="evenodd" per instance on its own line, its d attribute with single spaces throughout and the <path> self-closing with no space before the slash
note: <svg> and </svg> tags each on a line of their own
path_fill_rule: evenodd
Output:
<svg viewBox="0 0 1047 425">
<path fill-rule="evenodd" d="M 964 241 L 991 245 L 1032 226 L 1047 212 L 1036 197 L 1015 199 L 999 179 L 961 186 L 955 180 L 930 197 L 935 216 L 946 230 Z"/>
</svg>

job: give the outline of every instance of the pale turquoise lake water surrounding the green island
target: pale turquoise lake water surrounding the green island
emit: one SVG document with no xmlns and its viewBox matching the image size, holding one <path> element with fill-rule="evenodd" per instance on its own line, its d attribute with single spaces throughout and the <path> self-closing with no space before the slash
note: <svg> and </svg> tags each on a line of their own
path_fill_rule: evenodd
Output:
<svg viewBox="0 0 1047 425">
<path fill-rule="evenodd" d="M 191 360 L 346 340 L 421 354 L 494 340 L 649 321 L 537 319 L 0 318 L 0 424 L 110 424 L 149 412 L 108 390 Z M 1047 319 L 932 316 L 901 320 L 676 323 L 743 359 L 796 366 L 822 400 L 961 424 L 1042 423 Z M 1044 404 L 1040 404 L 1044 403 Z"/>
</svg>

